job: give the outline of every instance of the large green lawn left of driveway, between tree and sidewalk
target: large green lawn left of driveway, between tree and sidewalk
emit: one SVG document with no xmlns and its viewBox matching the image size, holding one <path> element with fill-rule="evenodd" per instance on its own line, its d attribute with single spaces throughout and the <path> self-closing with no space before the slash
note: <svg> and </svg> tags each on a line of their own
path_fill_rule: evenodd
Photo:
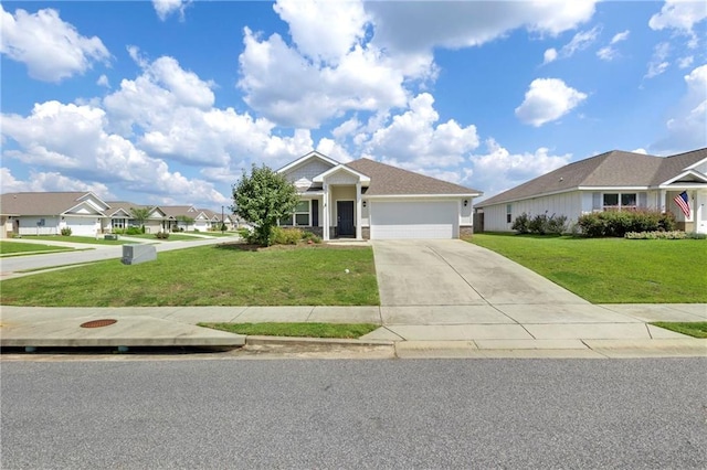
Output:
<svg viewBox="0 0 707 470">
<path fill-rule="evenodd" d="M 213 245 L 1 281 L 2 303 L 46 307 L 377 306 L 371 248 Z M 349 269 L 349 274 L 345 273 Z"/>
</svg>

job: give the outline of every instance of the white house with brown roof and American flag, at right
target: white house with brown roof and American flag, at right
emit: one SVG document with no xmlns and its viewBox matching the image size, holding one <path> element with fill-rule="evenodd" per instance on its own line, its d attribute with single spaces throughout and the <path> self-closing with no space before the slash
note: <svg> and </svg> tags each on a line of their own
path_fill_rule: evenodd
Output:
<svg viewBox="0 0 707 470">
<path fill-rule="evenodd" d="M 674 199 L 686 192 L 689 215 Z M 707 148 L 672 157 L 613 150 L 577 161 L 476 204 L 483 229 L 508 232 L 515 218 L 590 212 L 655 210 L 675 215 L 678 227 L 707 233 Z"/>
</svg>

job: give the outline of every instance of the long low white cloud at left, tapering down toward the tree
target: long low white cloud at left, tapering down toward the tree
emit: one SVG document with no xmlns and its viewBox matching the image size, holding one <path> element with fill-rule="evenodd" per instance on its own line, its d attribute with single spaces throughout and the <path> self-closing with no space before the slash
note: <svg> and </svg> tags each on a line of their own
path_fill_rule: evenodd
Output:
<svg viewBox="0 0 707 470">
<path fill-rule="evenodd" d="M 105 132 L 105 120 L 103 109 L 59 102 L 36 104 L 28 117 L 2 115 L 3 136 L 20 147 L 6 150 L 3 157 L 71 180 L 112 182 L 151 194 L 180 194 L 194 202 L 228 202 L 211 183 L 171 172 L 165 161 L 151 158 L 120 136 Z"/>
</svg>

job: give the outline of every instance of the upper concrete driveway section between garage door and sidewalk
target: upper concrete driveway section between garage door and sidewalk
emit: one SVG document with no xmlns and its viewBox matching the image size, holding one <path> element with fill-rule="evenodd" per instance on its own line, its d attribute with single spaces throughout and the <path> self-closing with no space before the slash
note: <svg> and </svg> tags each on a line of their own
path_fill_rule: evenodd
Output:
<svg viewBox="0 0 707 470">
<path fill-rule="evenodd" d="M 371 243 L 381 306 L 588 303 L 517 263 L 471 243 Z"/>
</svg>

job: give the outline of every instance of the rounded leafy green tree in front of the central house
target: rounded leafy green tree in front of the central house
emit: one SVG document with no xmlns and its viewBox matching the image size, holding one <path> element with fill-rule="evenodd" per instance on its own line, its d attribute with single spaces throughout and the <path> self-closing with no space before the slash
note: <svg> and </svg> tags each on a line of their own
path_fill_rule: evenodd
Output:
<svg viewBox="0 0 707 470">
<path fill-rule="evenodd" d="M 233 185 L 233 210 L 254 227 L 256 243 L 270 246 L 278 218 L 292 216 L 299 201 L 297 189 L 266 165 L 253 164 L 251 174 Z"/>
</svg>

